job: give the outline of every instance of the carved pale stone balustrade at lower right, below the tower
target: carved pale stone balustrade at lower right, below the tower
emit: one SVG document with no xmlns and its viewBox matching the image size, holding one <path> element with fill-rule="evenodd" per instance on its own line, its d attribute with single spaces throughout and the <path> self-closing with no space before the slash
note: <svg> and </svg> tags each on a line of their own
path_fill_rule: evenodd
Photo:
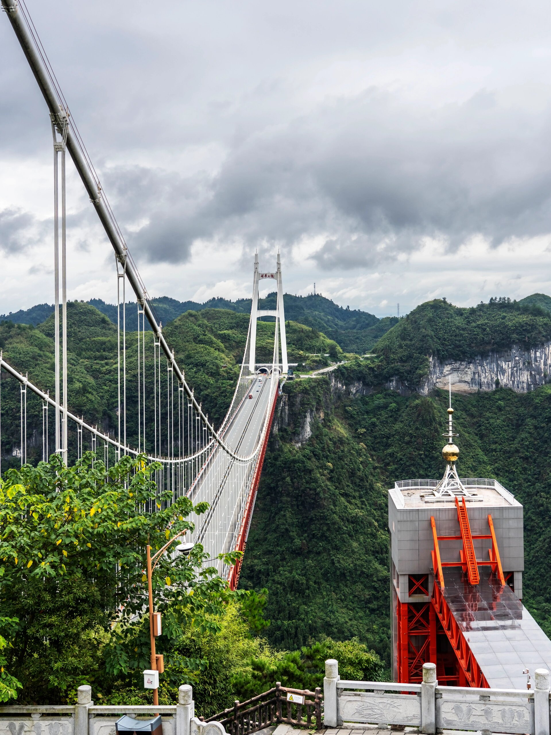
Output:
<svg viewBox="0 0 551 735">
<path fill-rule="evenodd" d="M 325 661 L 324 724 L 413 726 L 443 730 L 550 735 L 549 672 L 537 669 L 535 689 L 471 689 L 438 686 L 436 665 L 423 664 L 422 684 L 342 681 L 339 664 Z"/>
</svg>

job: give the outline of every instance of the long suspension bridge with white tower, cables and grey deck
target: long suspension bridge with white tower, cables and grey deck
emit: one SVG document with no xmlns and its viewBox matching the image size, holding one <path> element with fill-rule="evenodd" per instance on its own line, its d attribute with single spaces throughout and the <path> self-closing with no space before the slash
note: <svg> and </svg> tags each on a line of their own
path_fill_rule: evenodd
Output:
<svg viewBox="0 0 551 735">
<path fill-rule="evenodd" d="M 220 553 L 245 549 L 251 524 L 256 490 L 264 453 L 270 434 L 281 378 L 287 375 L 287 343 L 281 259 L 275 270 L 260 270 L 255 257 L 253 301 L 248 336 L 240 366 L 240 374 L 231 404 L 218 429 L 206 415 L 201 402 L 187 383 L 174 351 L 165 339 L 145 287 L 115 214 L 109 206 L 93 162 L 87 153 L 68 103 L 63 96 L 32 18 L 24 0 L 1 0 L 21 49 L 46 101 L 51 124 L 54 151 L 54 362 L 55 379 L 52 395 L 35 385 L 15 369 L 0 352 L 0 372 L 18 381 L 21 390 L 20 443 L 21 465 L 27 454 L 27 394 L 37 396 L 43 404 L 42 453 L 48 459 L 50 450 L 59 453 L 65 463 L 82 457 L 84 446 L 96 456 L 117 461 L 121 456 L 144 454 L 151 462 L 159 462 L 156 473 L 159 490 L 182 495 L 192 502 L 206 501 L 209 508 L 200 517 L 190 542 L 199 542 L 212 557 Z M 117 286 L 117 426 L 101 431 L 84 417 L 71 412 L 68 392 L 68 319 L 67 319 L 67 237 L 65 154 L 68 152 L 82 184 L 96 210 L 99 221 L 115 252 L 113 277 Z M 259 283 L 273 279 L 277 284 L 276 308 L 259 309 Z M 126 291 L 134 293 L 137 302 L 137 381 L 129 381 L 129 347 L 126 331 Z M 256 321 L 262 317 L 275 319 L 273 360 L 271 364 L 256 362 Z M 154 339 L 149 339 L 149 329 Z M 134 343 L 133 343 L 134 344 Z M 153 354 L 151 354 L 153 348 Z M 135 349 L 135 347 L 133 347 Z M 281 354 L 281 359 L 280 359 Z M 135 357 L 136 355 L 134 355 Z M 1 377 L 1 375 L 0 375 Z M 1 386 L 1 381 L 0 381 Z M 130 395 L 134 392 L 136 395 Z M 151 395 L 152 394 L 152 395 Z M 132 398 L 132 400 L 131 400 Z M 134 412 L 132 417 L 130 412 Z M 0 392 L 0 427 L 1 427 Z M 137 445 L 128 440 L 129 425 L 137 425 Z M 54 447 L 50 447 L 50 439 Z M 71 439 L 71 441 L 70 441 Z M 0 431 L 1 442 L 1 431 Z M 0 445 L 1 462 L 1 445 Z M 1 465 L 0 465 L 1 470 Z M 228 567 L 217 562 L 220 574 L 237 587 L 240 562 Z"/>
</svg>

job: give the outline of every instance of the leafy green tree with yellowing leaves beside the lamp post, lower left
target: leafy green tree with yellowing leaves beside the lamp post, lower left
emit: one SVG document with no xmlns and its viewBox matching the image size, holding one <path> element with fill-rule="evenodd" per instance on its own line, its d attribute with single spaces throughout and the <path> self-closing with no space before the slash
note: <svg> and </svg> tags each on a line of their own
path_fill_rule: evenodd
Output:
<svg viewBox="0 0 551 735">
<path fill-rule="evenodd" d="M 102 657 L 112 675 L 148 667 L 145 546 L 161 548 L 193 528 L 192 511 L 206 509 L 206 503 L 193 508 L 188 498 L 173 501 L 171 493 L 159 492 L 156 469 L 143 457 L 125 456 L 107 470 L 92 453 L 74 467 L 52 455 L 49 463 L 8 470 L 0 481 L 7 641 L 1 653 L 24 687 L 24 700 L 66 697 L 101 670 Z M 205 559 L 198 545 L 190 556 L 165 554 L 154 570 L 155 606 L 164 613 L 168 637 L 189 625 L 219 629 L 216 618 L 231 592 L 214 567 L 204 567 Z M 4 685 L 12 686 L 5 678 Z"/>
</svg>

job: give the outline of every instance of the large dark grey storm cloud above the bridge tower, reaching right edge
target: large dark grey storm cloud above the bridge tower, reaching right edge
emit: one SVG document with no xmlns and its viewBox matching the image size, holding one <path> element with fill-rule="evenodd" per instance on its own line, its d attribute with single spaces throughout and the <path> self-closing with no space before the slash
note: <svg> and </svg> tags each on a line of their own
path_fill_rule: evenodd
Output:
<svg viewBox="0 0 551 735">
<path fill-rule="evenodd" d="M 368 90 L 255 132 L 213 174 L 112 168 L 106 182 L 123 221 L 145 218 L 128 240 L 150 261 L 184 262 L 198 240 L 322 236 L 314 260 L 347 270 L 425 237 L 499 245 L 550 232 L 550 132 L 549 110 L 534 123 L 489 93 L 429 111 Z"/>
</svg>

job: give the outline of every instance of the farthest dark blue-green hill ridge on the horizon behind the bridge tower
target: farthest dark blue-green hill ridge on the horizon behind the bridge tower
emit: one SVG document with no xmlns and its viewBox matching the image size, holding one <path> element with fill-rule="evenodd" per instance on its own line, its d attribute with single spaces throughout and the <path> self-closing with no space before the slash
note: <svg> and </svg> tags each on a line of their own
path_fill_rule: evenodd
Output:
<svg viewBox="0 0 551 735">
<path fill-rule="evenodd" d="M 275 292 L 262 298 L 259 302 L 261 309 L 275 309 L 277 295 Z M 112 323 L 117 323 L 117 306 L 107 304 L 101 298 L 91 298 L 86 302 L 95 306 L 99 312 L 106 315 Z M 250 298 L 238 298 L 237 301 L 228 301 L 226 298 L 211 298 L 202 304 L 198 301 L 178 301 L 170 296 L 161 296 L 151 300 L 157 320 L 162 326 L 167 326 L 182 314 L 188 311 L 199 312 L 204 309 L 228 309 L 240 314 L 251 311 Z M 372 348 L 372 345 L 397 323 L 395 317 L 378 319 L 360 309 L 349 309 L 338 306 L 325 296 L 310 294 L 295 296 L 289 293 L 284 295 L 286 320 L 298 322 L 323 332 L 330 340 L 334 340 L 345 352 L 362 353 Z M 30 309 L 21 309 L 18 312 L 0 315 L 1 320 L 9 320 L 16 324 L 32 324 L 37 326 L 43 323 L 54 312 L 51 304 L 39 304 Z M 122 309 L 120 310 L 122 323 Z M 270 317 L 264 320 L 272 321 Z M 135 301 L 126 304 L 126 330 L 137 330 L 137 305 Z"/>
</svg>

